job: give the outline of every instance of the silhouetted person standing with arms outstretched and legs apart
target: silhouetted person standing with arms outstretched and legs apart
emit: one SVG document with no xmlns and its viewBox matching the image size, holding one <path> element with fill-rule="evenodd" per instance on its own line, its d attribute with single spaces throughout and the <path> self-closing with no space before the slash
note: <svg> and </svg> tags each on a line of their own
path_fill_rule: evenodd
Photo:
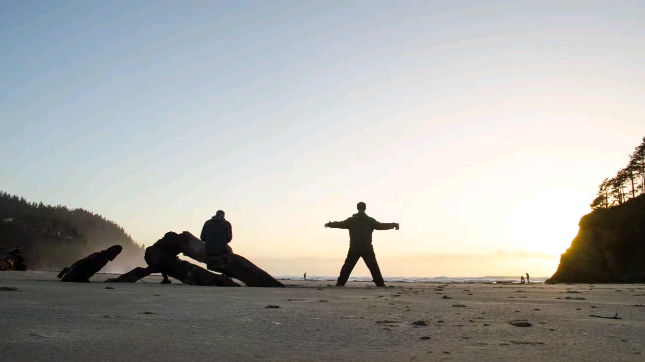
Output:
<svg viewBox="0 0 645 362">
<path fill-rule="evenodd" d="M 336 285 L 342 287 L 347 283 L 350 278 L 352 269 L 359 261 L 360 258 L 365 262 L 368 269 L 372 273 L 372 279 L 378 287 L 384 287 L 385 282 L 379 269 L 379 263 L 376 262 L 376 255 L 372 246 L 372 232 L 375 230 L 399 230 L 399 224 L 389 223 L 384 224 L 377 222 L 365 213 L 366 205 L 364 202 L 359 202 L 356 205 L 358 213 L 352 217 L 337 222 L 328 222 L 324 227 L 333 227 L 335 229 L 348 229 L 350 231 L 350 250 L 347 252 L 347 258 L 342 265 L 341 274 L 338 277 Z"/>
</svg>

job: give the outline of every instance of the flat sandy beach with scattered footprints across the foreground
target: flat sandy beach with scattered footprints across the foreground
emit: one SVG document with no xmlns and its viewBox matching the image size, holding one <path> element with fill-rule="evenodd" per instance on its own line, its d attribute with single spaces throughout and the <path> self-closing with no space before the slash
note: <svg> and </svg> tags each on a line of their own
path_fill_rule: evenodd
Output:
<svg viewBox="0 0 645 362">
<path fill-rule="evenodd" d="M 61 283 L 55 274 L 0 273 L 3 360 L 645 359 L 640 284 L 390 283 L 382 289 L 286 281 L 284 289 L 260 289 L 160 285 L 155 276 L 101 283 L 111 274 L 89 284 Z M 590 316 L 616 313 L 622 319 Z"/>
</svg>

